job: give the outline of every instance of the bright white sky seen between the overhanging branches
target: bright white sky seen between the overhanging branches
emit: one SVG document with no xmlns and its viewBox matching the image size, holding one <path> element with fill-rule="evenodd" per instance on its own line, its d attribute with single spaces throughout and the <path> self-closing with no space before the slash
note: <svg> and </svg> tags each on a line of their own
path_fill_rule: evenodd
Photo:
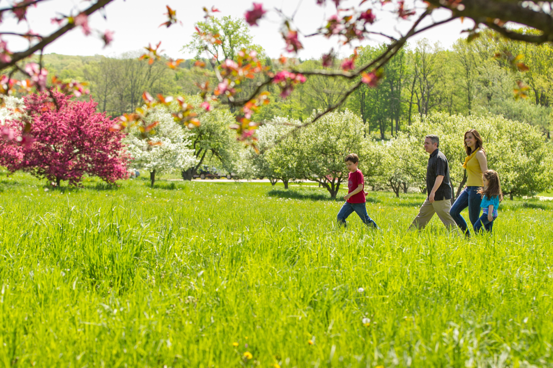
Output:
<svg viewBox="0 0 553 368">
<path fill-rule="evenodd" d="M 357 5 L 359 0 L 343 1 L 346 6 Z M 265 9 L 271 10 L 266 17 L 258 21 L 258 27 L 252 27 L 251 33 L 253 42 L 261 45 L 270 57 L 279 57 L 284 52 L 284 42 L 279 33 L 280 23 L 275 9 L 283 10 L 284 14 L 291 16 L 296 12 L 295 24 L 303 34 L 310 34 L 319 28 L 324 20 L 330 15 L 336 13 L 336 8 L 331 0 L 327 0 L 326 8 L 316 5 L 315 0 L 257 0 L 262 2 Z M 368 3 L 368 2 L 367 2 Z M 406 3 L 409 3 L 406 2 Z M 176 15 L 182 21 L 181 25 L 173 25 L 167 29 L 159 27 L 166 20 L 163 15 L 166 12 L 165 5 L 176 9 Z M 50 23 L 50 19 L 56 17 L 58 13 L 69 14 L 71 9 L 84 9 L 90 6 L 88 1 L 78 0 L 50 0 L 40 3 L 38 7 L 31 8 L 28 12 L 30 28 L 40 34 L 49 34 L 56 29 L 55 25 Z M 60 39 L 50 44 L 45 49 L 45 53 L 55 52 L 64 55 L 107 55 L 114 56 L 127 51 L 142 50 L 142 47 L 148 43 L 152 45 L 159 41 L 161 49 L 165 54 L 173 58 L 190 58 L 188 52 L 181 51 L 182 46 L 191 40 L 194 33 L 194 23 L 203 20 L 203 6 L 211 8 L 215 6 L 221 10 L 217 15 L 231 15 L 232 17 L 243 18 L 244 12 L 252 8 L 252 0 L 208 0 L 194 2 L 190 0 L 114 0 L 106 7 L 107 19 L 103 19 L 101 13 L 96 12 L 92 15 L 89 24 L 91 28 L 104 31 L 106 29 L 114 31 L 114 41 L 105 49 L 103 42 L 95 36 L 86 37 L 81 29 L 75 29 L 62 36 Z M 419 9 L 424 7 L 419 0 L 416 0 L 416 6 Z M 296 11 L 297 9 L 297 11 Z M 389 10 L 393 10 L 390 8 Z M 76 14 L 75 10 L 73 10 Z M 436 10 L 432 17 L 435 20 L 441 20 L 448 17 L 446 10 Z M 431 42 L 440 42 L 446 49 L 451 47 L 461 36 L 461 30 L 472 28 L 472 21 L 465 20 L 461 24 L 460 20 L 452 21 L 446 25 L 438 26 L 428 30 L 425 33 L 414 38 L 427 38 Z M 379 31 L 385 34 L 398 35 L 398 30 L 405 33 L 409 29 L 410 23 L 403 22 L 398 24 L 395 18 L 389 12 L 377 13 L 377 22 L 371 30 Z M 4 15 L 2 31 L 27 31 L 26 24 L 17 25 L 15 19 Z M 28 45 L 25 40 L 18 40 L 12 36 L 4 36 L 8 41 L 8 49 L 18 51 Z M 332 46 L 338 44 L 336 40 L 326 40 L 324 38 L 300 38 L 305 49 L 298 54 L 301 58 L 320 57 L 328 52 Z M 375 39 L 364 41 L 362 45 L 376 45 L 384 39 Z M 351 54 L 351 49 L 340 50 L 341 56 Z M 286 55 L 286 54 L 285 54 Z"/>
</svg>

